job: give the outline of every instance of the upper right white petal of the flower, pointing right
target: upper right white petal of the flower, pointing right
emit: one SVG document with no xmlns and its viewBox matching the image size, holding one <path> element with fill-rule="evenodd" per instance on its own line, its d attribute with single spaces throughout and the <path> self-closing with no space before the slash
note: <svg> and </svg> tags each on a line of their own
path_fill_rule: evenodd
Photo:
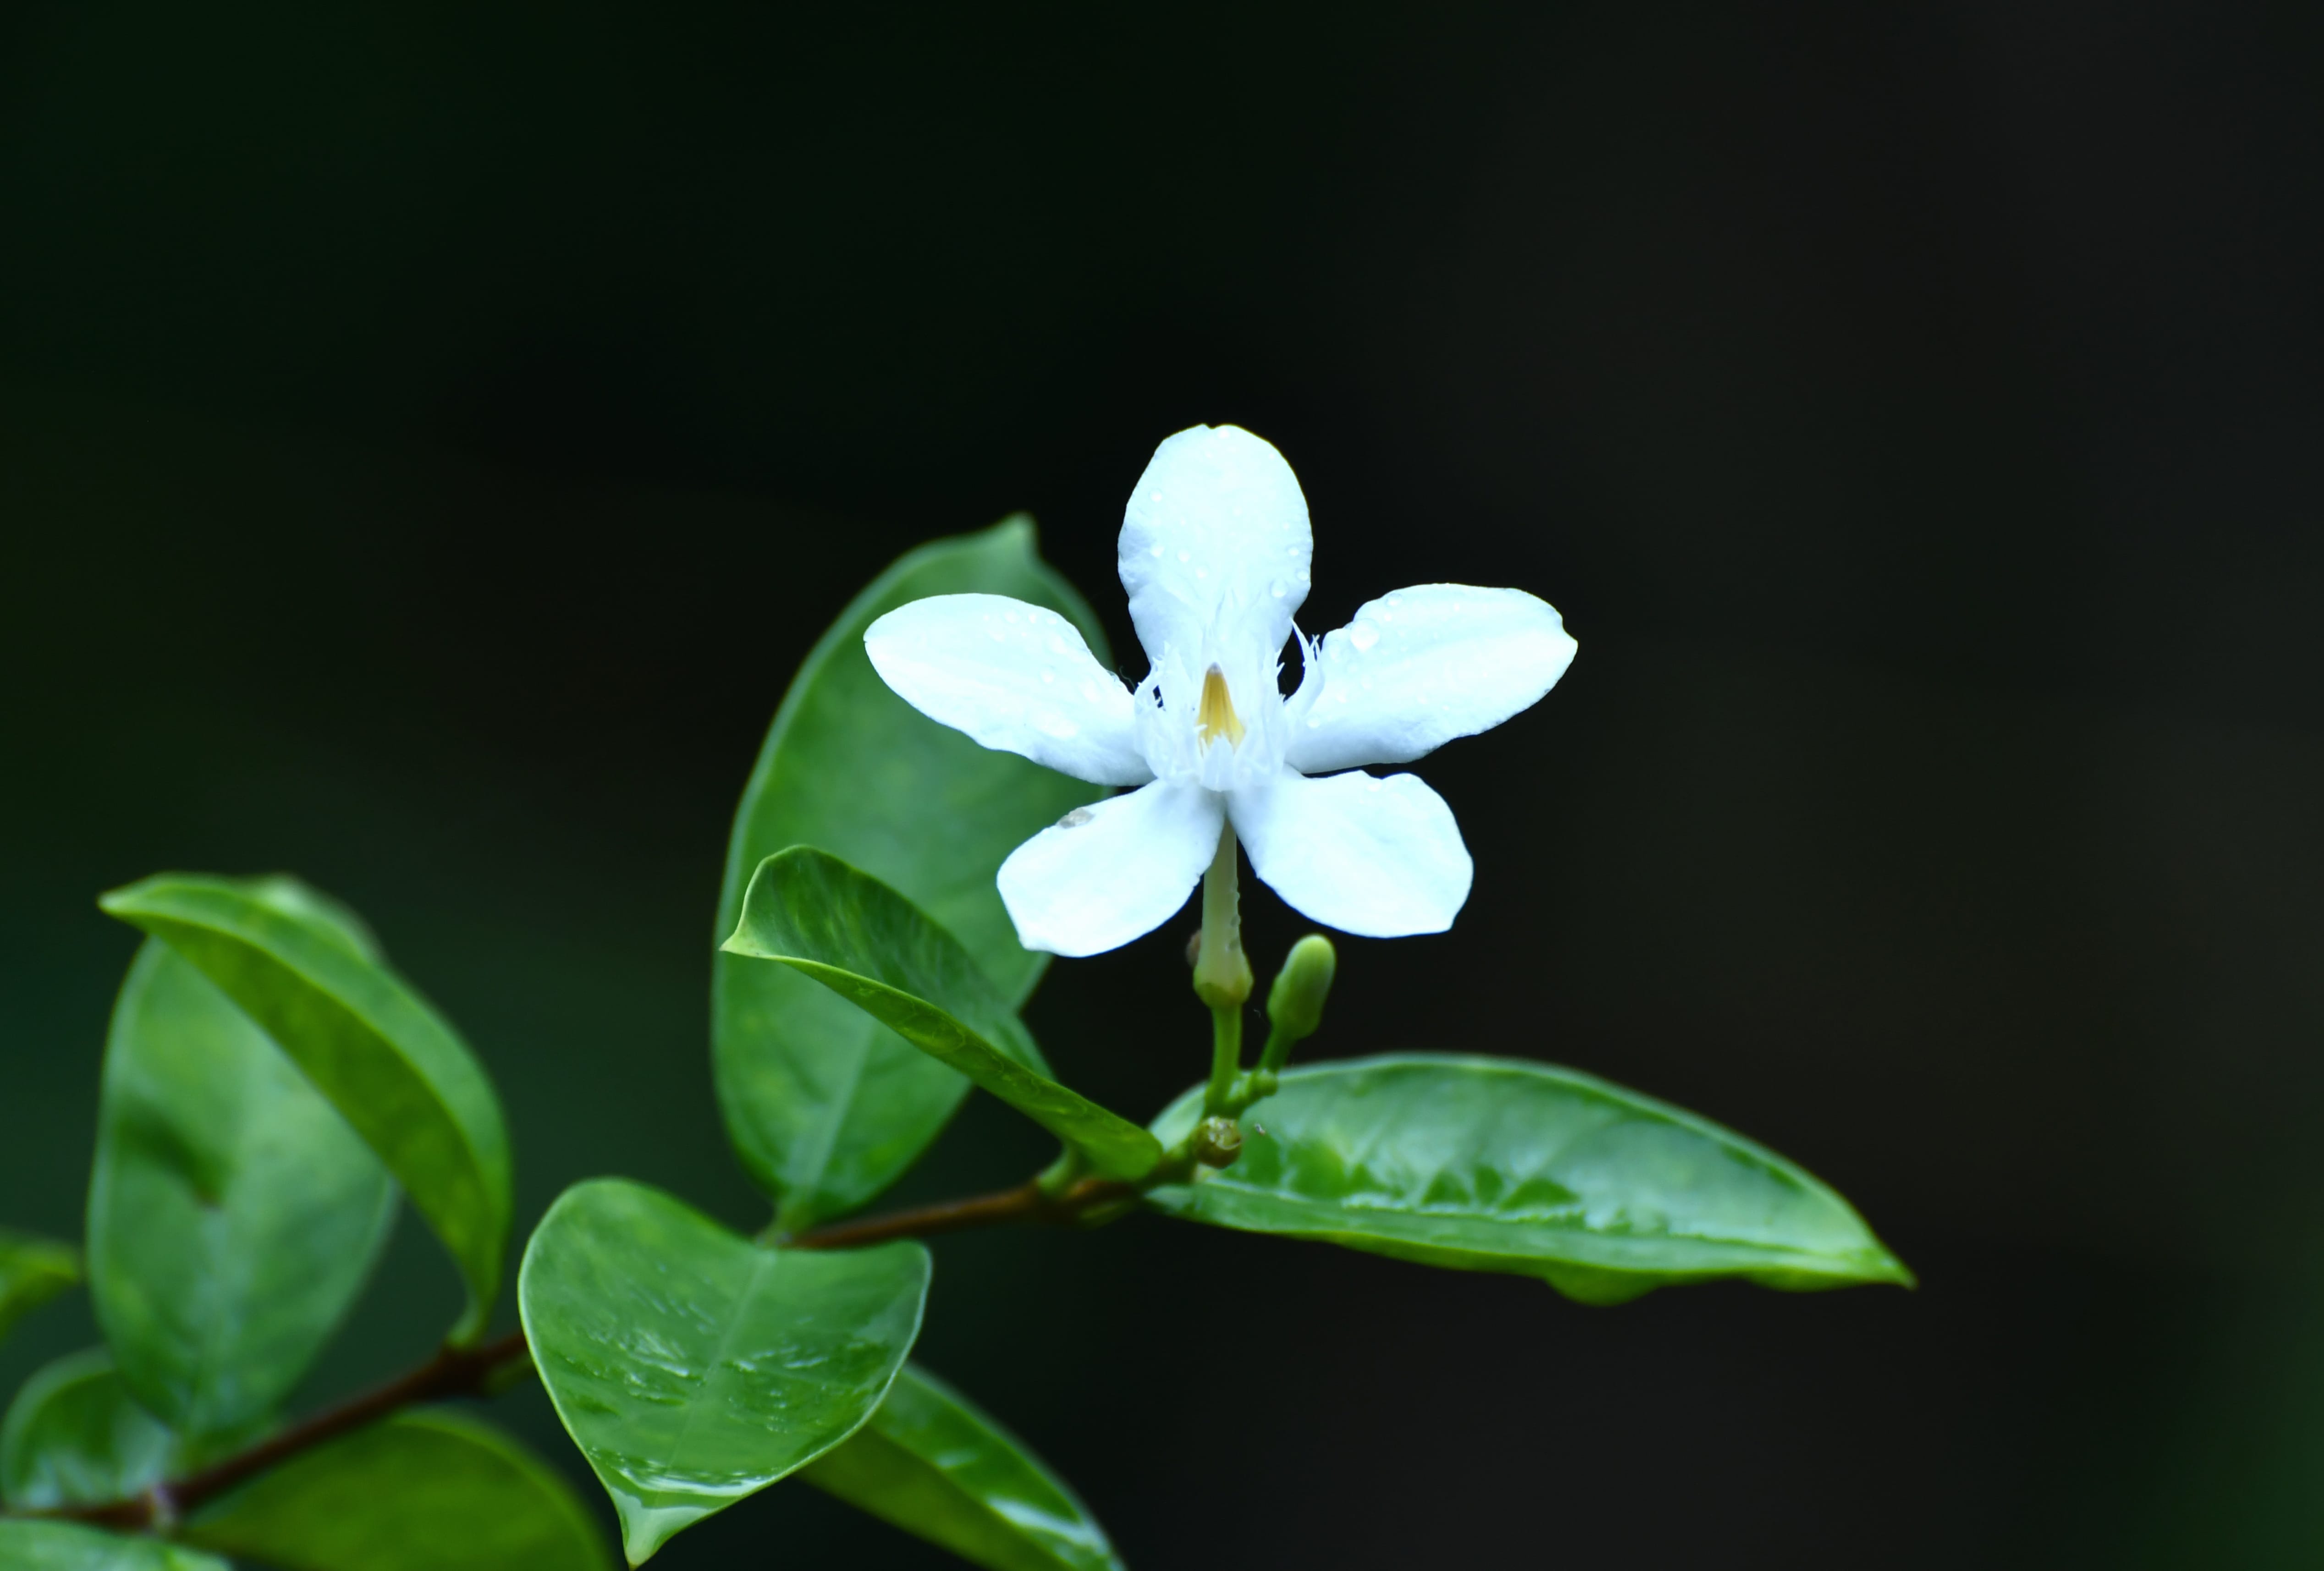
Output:
<svg viewBox="0 0 2324 1571">
<path fill-rule="evenodd" d="M 1422 583 L 1325 634 L 1290 700 L 1301 774 L 1401 765 L 1541 702 L 1573 662 L 1557 611 L 1525 590 Z"/>
</svg>

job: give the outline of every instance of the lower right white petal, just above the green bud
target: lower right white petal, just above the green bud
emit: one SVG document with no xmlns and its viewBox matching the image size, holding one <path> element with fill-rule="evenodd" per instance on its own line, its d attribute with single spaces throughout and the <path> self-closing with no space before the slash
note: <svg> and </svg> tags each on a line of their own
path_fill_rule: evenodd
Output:
<svg viewBox="0 0 2324 1571">
<path fill-rule="evenodd" d="M 1364 939 L 1443 932 L 1469 899 L 1452 809 L 1415 774 L 1285 769 L 1227 799 L 1250 871 L 1292 909 Z"/>
</svg>

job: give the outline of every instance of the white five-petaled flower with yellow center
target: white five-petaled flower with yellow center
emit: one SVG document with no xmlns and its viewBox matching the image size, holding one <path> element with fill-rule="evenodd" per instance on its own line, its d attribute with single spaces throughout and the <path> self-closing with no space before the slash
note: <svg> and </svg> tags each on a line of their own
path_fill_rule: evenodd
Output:
<svg viewBox="0 0 2324 1571">
<path fill-rule="evenodd" d="M 1122 516 L 1122 588 L 1153 662 L 1134 693 L 1069 620 L 1004 595 L 916 600 L 865 632 L 871 665 L 920 713 L 1078 781 L 1139 788 L 1067 813 L 1002 865 L 1025 948 L 1095 955 L 1153 932 L 1222 823 L 1253 871 L 1327 927 L 1390 939 L 1452 925 L 1471 876 L 1452 809 L 1418 776 L 1353 769 L 1532 706 L 1573 639 L 1522 590 L 1422 583 L 1320 644 L 1301 637 L 1299 690 L 1283 697 L 1311 555 L 1283 455 L 1197 425 L 1155 449 Z"/>
</svg>

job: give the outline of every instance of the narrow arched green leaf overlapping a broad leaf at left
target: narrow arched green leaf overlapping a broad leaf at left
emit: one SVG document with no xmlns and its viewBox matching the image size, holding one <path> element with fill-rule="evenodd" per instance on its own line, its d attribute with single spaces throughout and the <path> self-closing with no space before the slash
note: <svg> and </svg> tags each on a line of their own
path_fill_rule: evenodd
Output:
<svg viewBox="0 0 2324 1571">
<path fill-rule="evenodd" d="M 284 878 L 158 874 L 98 904 L 191 960 L 388 1164 L 467 1281 L 456 1343 L 483 1334 L 509 1248 L 509 1134 L 467 1043 Z M 304 906 L 304 909 L 288 909 Z"/>
</svg>

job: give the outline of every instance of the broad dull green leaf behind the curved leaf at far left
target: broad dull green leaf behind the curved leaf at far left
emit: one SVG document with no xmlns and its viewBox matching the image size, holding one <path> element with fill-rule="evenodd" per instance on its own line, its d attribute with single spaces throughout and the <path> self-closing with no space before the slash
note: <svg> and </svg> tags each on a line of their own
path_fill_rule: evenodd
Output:
<svg viewBox="0 0 2324 1571">
<path fill-rule="evenodd" d="M 121 1373 L 205 1436 L 272 1413 L 363 1290 L 395 1183 L 193 962 L 146 939 L 105 1043 L 88 1290 Z"/>
</svg>

